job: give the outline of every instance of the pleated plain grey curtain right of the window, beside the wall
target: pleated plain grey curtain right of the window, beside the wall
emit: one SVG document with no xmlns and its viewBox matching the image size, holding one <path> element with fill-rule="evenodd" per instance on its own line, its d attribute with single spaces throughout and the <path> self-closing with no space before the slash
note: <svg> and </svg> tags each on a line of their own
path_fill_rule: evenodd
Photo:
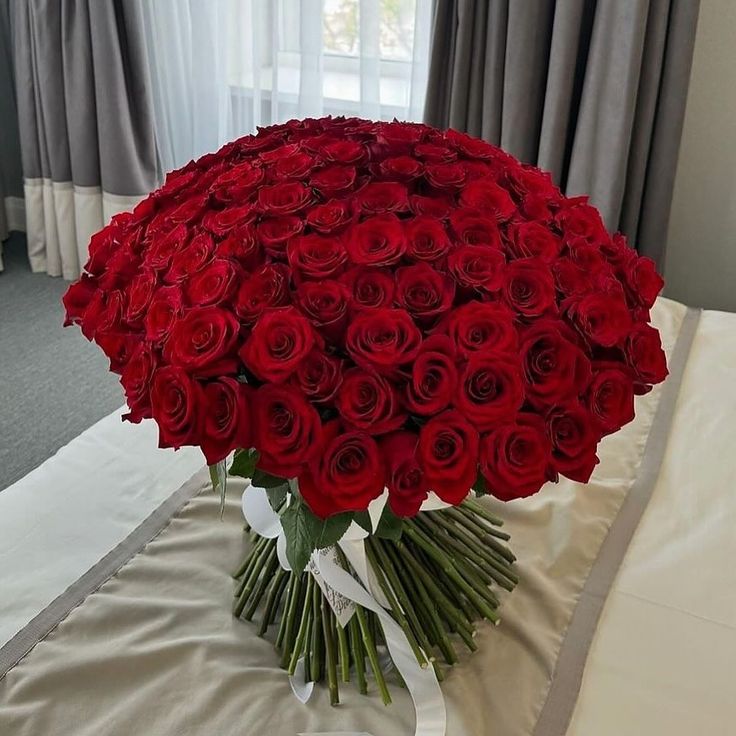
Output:
<svg viewBox="0 0 736 736">
<path fill-rule="evenodd" d="M 425 119 L 589 194 L 662 265 L 699 0 L 436 0 Z"/>
</svg>

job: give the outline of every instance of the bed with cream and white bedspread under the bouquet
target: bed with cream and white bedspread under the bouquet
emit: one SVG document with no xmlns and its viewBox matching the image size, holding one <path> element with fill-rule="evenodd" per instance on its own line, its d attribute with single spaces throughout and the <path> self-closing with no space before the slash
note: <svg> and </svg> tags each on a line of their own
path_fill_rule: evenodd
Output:
<svg viewBox="0 0 736 736">
<path fill-rule="evenodd" d="M 729 736 L 736 722 L 736 315 L 660 299 L 671 377 L 587 487 L 496 505 L 520 587 L 443 683 L 450 736 Z M 245 544 L 198 450 L 103 419 L 0 492 L 0 734 L 413 733 L 344 688 L 298 702 L 230 615 Z"/>
</svg>

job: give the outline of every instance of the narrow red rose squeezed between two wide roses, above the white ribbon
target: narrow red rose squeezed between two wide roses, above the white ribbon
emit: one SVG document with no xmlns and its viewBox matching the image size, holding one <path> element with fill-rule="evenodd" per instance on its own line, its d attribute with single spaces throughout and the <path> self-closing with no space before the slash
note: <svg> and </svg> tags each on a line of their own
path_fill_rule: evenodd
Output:
<svg viewBox="0 0 736 736">
<path fill-rule="evenodd" d="M 396 516 L 415 516 L 429 488 L 417 459 L 419 438 L 413 432 L 392 432 L 379 448 L 386 463 L 388 505 Z"/>
</svg>

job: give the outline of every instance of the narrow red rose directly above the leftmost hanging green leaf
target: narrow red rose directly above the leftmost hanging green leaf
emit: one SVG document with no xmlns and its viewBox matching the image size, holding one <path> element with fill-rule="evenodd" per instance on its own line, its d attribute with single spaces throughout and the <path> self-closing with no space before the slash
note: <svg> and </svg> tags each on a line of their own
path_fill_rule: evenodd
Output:
<svg viewBox="0 0 736 736">
<path fill-rule="evenodd" d="M 253 390 L 234 378 L 221 378 L 204 387 L 202 452 L 208 465 L 224 460 L 238 447 L 252 445 L 250 402 Z"/>
</svg>

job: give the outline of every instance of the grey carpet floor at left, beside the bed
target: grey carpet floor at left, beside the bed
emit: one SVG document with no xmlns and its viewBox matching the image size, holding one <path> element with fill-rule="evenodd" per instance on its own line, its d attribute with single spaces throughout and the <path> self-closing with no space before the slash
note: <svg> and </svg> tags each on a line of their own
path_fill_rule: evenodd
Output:
<svg viewBox="0 0 736 736">
<path fill-rule="evenodd" d="M 31 273 L 20 233 L 3 243 L 3 261 L 0 491 L 124 402 L 99 348 L 61 326 L 68 282 Z"/>
</svg>

